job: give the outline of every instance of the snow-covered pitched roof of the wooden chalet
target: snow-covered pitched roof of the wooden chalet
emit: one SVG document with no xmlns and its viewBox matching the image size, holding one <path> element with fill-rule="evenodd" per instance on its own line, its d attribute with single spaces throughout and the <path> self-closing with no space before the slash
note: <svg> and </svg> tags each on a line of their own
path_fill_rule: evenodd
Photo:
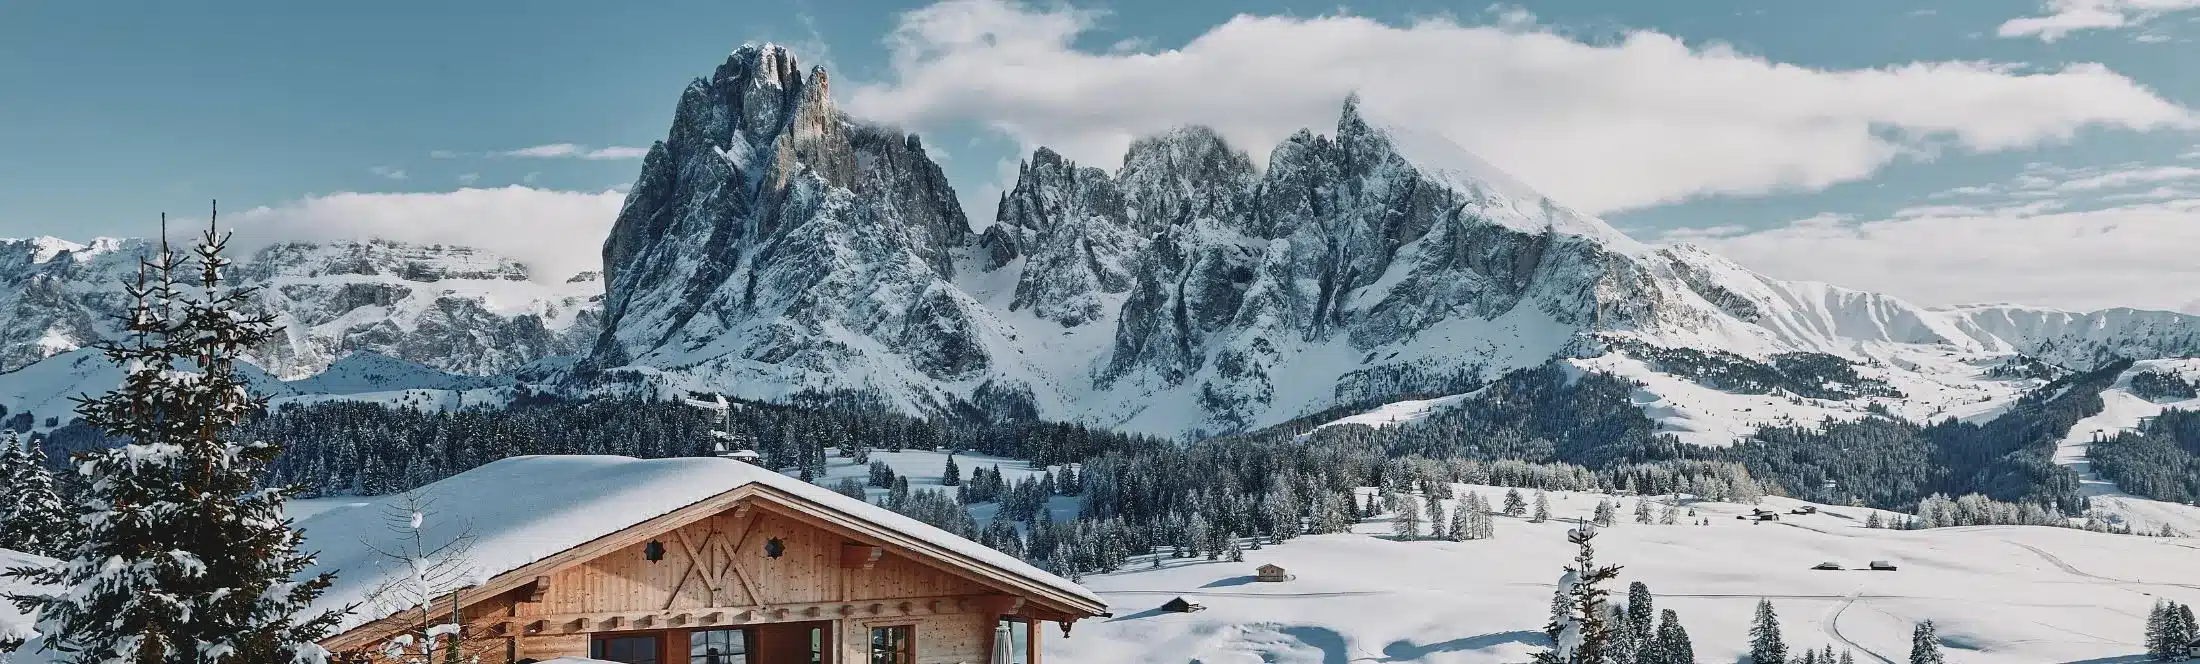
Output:
<svg viewBox="0 0 2200 664">
<path fill-rule="evenodd" d="M 471 532 L 473 550 L 466 558 L 473 569 L 469 583 L 484 583 L 598 536 L 752 484 L 790 493 L 902 536 L 975 558 L 1054 591 L 1104 605 L 1093 591 L 1010 554 L 823 486 L 719 457 L 532 455 L 499 460 L 422 486 L 418 495 L 433 501 L 433 506 L 420 528 L 429 543 Z M 376 547 L 396 550 L 394 541 L 398 532 L 387 528 L 389 510 L 385 508 L 392 499 L 363 499 L 361 503 L 332 508 L 297 521 L 297 528 L 306 532 L 306 550 L 319 554 L 317 567 L 308 569 L 308 574 L 337 572 L 334 585 L 315 602 L 315 609 L 361 605 L 352 616 L 345 616 L 339 631 L 383 618 L 372 616 L 376 609 L 365 607 L 365 598 L 374 589 L 389 585 L 389 580 L 411 574 L 403 561 L 392 561 L 376 552 Z"/>
</svg>

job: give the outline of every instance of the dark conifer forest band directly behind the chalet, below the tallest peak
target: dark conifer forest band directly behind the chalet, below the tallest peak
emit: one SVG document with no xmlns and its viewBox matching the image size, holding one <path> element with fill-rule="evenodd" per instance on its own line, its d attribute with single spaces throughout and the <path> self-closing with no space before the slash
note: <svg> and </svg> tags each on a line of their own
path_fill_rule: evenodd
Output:
<svg viewBox="0 0 2200 664">
<path fill-rule="evenodd" d="M 821 477 L 825 449 L 961 449 L 1076 462 L 1113 449 L 1166 446 L 1058 422 L 992 422 L 968 416 L 920 420 L 876 407 L 741 402 L 715 413 L 675 400 L 521 398 L 506 409 L 420 411 L 372 402 L 286 405 L 240 429 L 244 440 L 277 440 L 284 455 L 271 484 L 306 495 L 389 495 L 517 455 L 715 455 L 713 429 L 730 429 L 772 468 Z M 62 427 L 40 446 L 55 460 L 114 442 L 86 427 Z"/>
</svg>

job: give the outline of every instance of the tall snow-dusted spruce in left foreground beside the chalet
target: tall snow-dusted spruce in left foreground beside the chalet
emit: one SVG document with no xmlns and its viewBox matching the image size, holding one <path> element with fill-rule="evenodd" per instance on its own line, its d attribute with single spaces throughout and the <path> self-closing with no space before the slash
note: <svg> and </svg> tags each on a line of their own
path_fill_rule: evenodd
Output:
<svg viewBox="0 0 2200 664">
<path fill-rule="evenodd" d="M 123 444 L 77 460 L 81 532 L 62 563 L 9 572 L 51 589 L 15 602 L 40 611 L 46 649 L 62 662 L 328 660 L 317 640 L 341 613 L 299 616 L 330 576 L 297 580 L 312 556 L 282 514 L 295 488 L 255 486 L 282 446 L 227 438 L 264 407 L 238 356 L 275 325 L 242 312 L 253 290 L 229 284 L 224 242 L 209 229 L 189 266 L 163 242 L 125 286 L 121 341 L 99 345 L 123 383 L 77 402 L 88 427 Z M 187 284 L 180 273 L 194 268 Z"/>
</svg>

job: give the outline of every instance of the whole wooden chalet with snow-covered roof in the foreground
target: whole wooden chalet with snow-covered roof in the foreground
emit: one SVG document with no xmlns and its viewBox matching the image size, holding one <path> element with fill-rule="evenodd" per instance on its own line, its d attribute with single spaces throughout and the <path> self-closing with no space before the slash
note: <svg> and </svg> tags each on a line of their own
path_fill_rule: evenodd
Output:
<svg viewBox="0 0 2200 664">
<path fill-rule="evenodd" d="M 735 460 L 515 457 L 425 486 L 429 536 L 471 534 L 458 607 L 482 662 L 629 664 L 1041 662 L 1104 616 L 1091 591 L 891 510 Z M 361 503 L 299 521 L 359 605 L 323 646 L 376 660 L 418 629 L 376 607 L 403 565 L 376 561 Z M 370 534 L 363 539 L 363 534 Z M 350 543 L 348 543 L 350 541 Z M 396 616 L 392 616 L 396 613 Z"/>
</svg>

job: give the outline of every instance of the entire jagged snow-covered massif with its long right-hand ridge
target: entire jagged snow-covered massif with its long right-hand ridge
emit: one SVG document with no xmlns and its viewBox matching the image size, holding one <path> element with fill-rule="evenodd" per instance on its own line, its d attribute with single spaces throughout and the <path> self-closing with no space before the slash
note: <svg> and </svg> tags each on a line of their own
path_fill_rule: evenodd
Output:
<svg viewBox="0 0 2200 664">
<path fill-rule="evenodd" d="M 972 233 L 917 136 L 827 92 L 779 46 L 682 92 L 605 242 L 607 334 L 576 376 L 1190 433 L 1553 356 L 1727 396 L 1690 367 L 1762 367 L 1797 387 L 1745 396 L 1929 416 L 2037 385 L 2013 363 L 2200 352 L 2189 314 L 1929 310 L 1643 246 L 1465 152 L 1404 150 L 1355 101 L 1265 165 L 1203 128 L 1135 141 L 1113 171 L 1041 147 Z M 1877 387 L 1811 387 L 1835 378 Z"/>
</svg>

